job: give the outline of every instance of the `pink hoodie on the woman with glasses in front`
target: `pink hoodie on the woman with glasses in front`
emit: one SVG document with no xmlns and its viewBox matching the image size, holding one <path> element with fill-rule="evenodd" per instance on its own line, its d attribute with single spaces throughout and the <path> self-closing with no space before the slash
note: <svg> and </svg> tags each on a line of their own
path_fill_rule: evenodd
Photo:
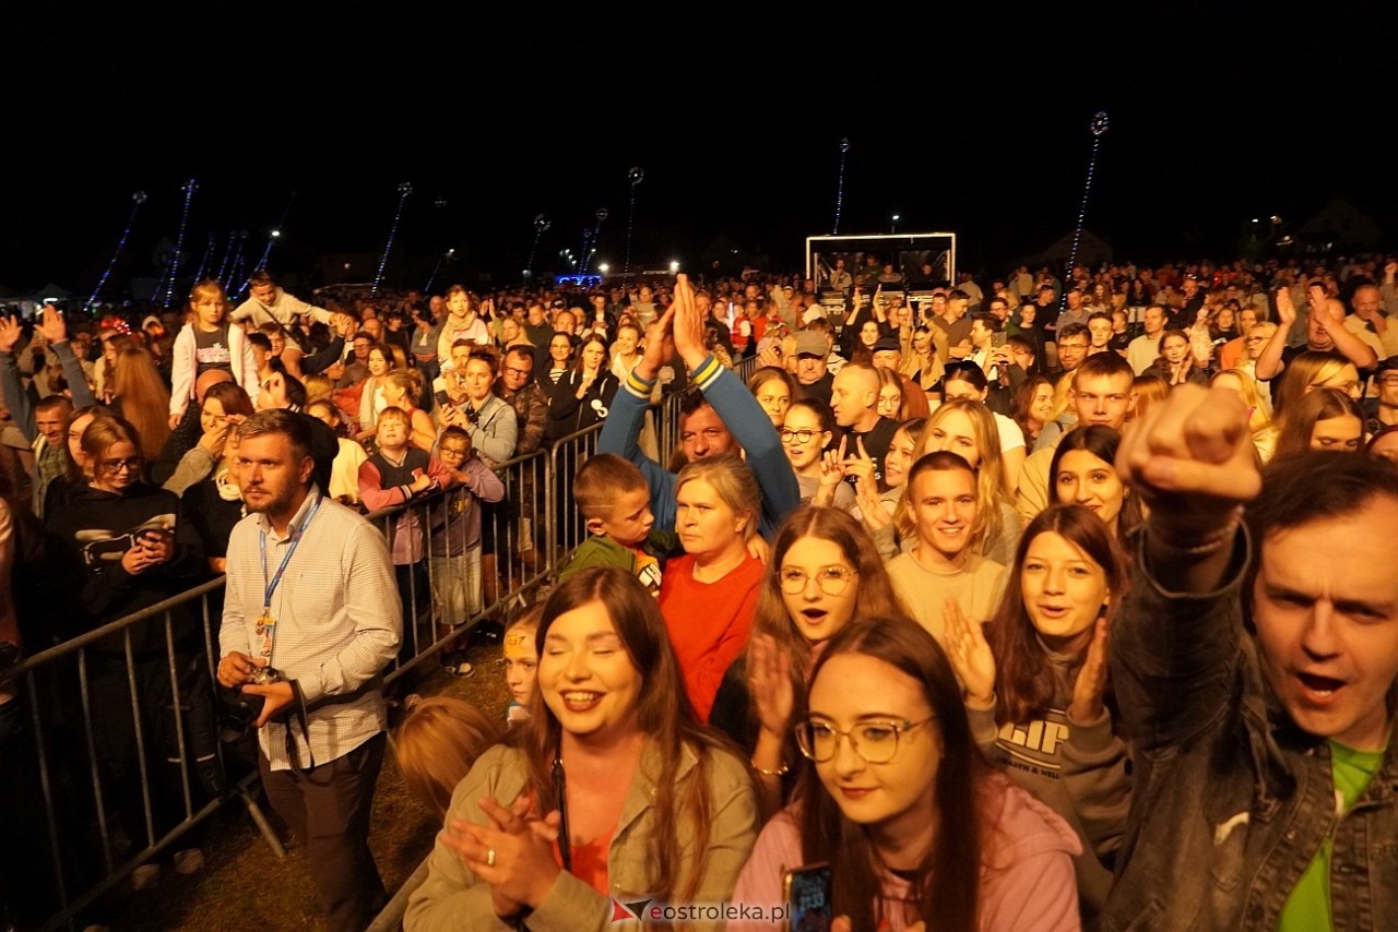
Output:
<svg viewBox="0 0 1398 932">
<path fill-rule="evenodd" d="M 984 841 L 980 873 L 981 932 L 1067 932 L 1081 929 L 1078 883 L 1072 857 L 1082 851 L 1068 823 L 1028 792 L 994 774 L 987 787 L 994 829 Z M 781 879 L 801 866 L 800 813 L 794 806 L 777 813 L 758 836 L 742 866 L 733 903 L 781 903 Z M 839 873 L 839 857 L 830 859 Z M 893 875 L 884 878 L 889 932 L 909 925 L 896 907 L 909 896 L 909 884 Z M 934 910 L 935 912 L 935 910 Z M 766 932 L 772 922 L 733 921 L 728 932 Z M 931 926 L 928 926 L 931 928 Z"/>
</svg>

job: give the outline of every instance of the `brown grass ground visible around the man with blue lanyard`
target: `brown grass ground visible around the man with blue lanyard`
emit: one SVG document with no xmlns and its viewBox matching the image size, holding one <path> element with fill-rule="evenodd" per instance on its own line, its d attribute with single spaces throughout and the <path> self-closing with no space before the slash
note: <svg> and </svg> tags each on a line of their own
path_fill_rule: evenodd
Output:
<svg viewBox="0 0 1398 932">
<path fill-rule="evenodd" d="M 445 693 L 466 699 L 503 721 L 509 692 L 498 664 L 499 644 L 475 643 L 468 658 L 475 665 L 474 676 L 449 676 L 429 664 L 432 673 L 414 690 L 424 696 Z M 391 724 L 396 727 L 397 721 L 394 714 Z M 155 887 L 122 893 L 94 912 L 94 918 L 101 918 L 115 932 L 323 929 L 303 848 L 288 837 L 270 808 L 264 806 L 264 812 L 287 844 L 284 859 L 273 854 L 247 813 L 231 803 L 210 822 L 208 834 L 217 841 L 204 847 L 208 862 L 203 871 L 179 876 L 166 864 Z M 408 792 L 389 753 L 375 792 L 369 844 L 390 896 L 432 850 L 439 827 L 431 809 Z"/>
</svg>

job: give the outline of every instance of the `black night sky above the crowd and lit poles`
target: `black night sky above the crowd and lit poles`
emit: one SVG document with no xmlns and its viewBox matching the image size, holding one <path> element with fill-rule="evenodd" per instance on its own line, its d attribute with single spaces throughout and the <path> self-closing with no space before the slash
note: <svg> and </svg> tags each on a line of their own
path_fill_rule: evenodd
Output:
<svg viewBox="0 0 1398 932">
<path fill-rule="evenodd" d="M 1395 229 L 1377 4 L 477 6 L 11 14 L 32 56 L 0 92 L 0 285 L 91 289 L 136 190 L 117 277 L 144 272 L 186 177 L 196 264 L 211 232 L 215 261 L 235 229 L 260 254 L 292 191 L 274 271 L 375 256 L 408 180 L 390 278 L 452 246 L 446 275 L 510 279 L 535 214 L 544 267 L 597 207 L 619 265 L 633 165 L 633 264 L 693 264 L 723 232 L 798 267 L 833 224 L 844 137 L 842 233 L 898 212 L 998 270 L 1072 228 L 1099 109 L 1086 225 L 1123 257 L 1226 259 L 1251 217 L 1334 194 Z"/>
</svg>

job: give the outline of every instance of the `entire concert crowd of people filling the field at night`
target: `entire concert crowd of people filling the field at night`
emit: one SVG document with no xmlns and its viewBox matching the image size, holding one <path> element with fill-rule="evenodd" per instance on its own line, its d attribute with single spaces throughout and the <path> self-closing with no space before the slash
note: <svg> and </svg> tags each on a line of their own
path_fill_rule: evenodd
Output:
<svg viewBox="0 0 1398 932">
<path fill-rule="evenodd" d="M 326 307 L 259 272 L 140 328 L 0 320 L 0 662 L 226 574 L 217 682 L 266 700 L 268 799 L 358 929 L 405 592 L 450 641 L 572 521 L 505 627 L 505 720 L 403 720 L 443 817 L 408 929 L 774 928 L 822 865 L 832 928 L 1387 928 L 1398 261 L 914 284 L 858 259 Z M 577 457 L 552 516 L 499 475 L 549 449 Z M 428 500 L 387 535 L 356 514 Z M 151 734 L 168 661 L 212 707 L 173 618 L 87 661 L 122 819 L 131 689 Z M 0 678 L 8 799 L 21 704 Z M 180 774 L 144 753 L 172 824 Z"/>
</svg>

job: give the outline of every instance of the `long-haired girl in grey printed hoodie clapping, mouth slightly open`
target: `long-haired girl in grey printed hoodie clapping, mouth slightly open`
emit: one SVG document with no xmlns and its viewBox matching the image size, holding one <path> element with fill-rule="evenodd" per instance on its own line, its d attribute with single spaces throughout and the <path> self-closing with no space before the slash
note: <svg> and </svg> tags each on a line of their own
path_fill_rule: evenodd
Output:
<svg viewBox="0 0 1398 932">
<path fill-rule="evenodd" d="M 1107 632 L 1125 559 L 1096 514 L 1053 504 L 1019 542 L 988 630 L 946 605 L 946 653 L 981 750 L 1074 827 L 1083 921 L 1111 886 L 1131 803 L 1127 745 L 1107 708 Z"/>
</svg>

